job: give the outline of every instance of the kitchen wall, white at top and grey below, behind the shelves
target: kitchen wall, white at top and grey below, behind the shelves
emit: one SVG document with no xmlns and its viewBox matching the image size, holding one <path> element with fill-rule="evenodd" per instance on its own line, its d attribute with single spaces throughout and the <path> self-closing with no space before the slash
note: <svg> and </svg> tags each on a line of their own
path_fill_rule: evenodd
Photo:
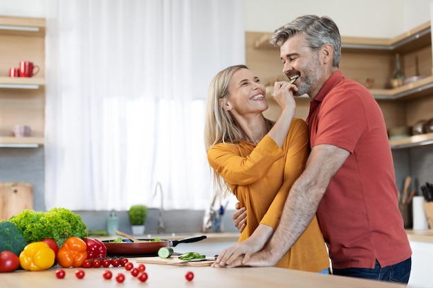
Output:
<svg viewBox="0 0 433 288">
<path fill-rule="evenodd" d="M 244 28 L 246 31 L 272 32 L 299 15 L 316 14 L 332 17 L 343 36 L 394 37 L 430 21 L 431 2 L 416 0 L 414 5 L 413 0 L 309 0 L 308 5 L 294 5 L 293 1 L 287 0 L 244 0 Z M 47 17 L 48 11 L 53 8 L 51 3 L 51 0 L 0 0 L 0 15 Z M 394 151 L 399 189 L 403 186 L 403 179 L 408 173 L 416 177 L 419 183 L 433 181 L 432 151 L 432 146 Z M 33 184 L 35 210 L 45 210 L 44 177 L 44 148 L 0 148 L 0 182 L 26 181 Z M 167 220 L 176 218 L 170 213 L 172 212 L 167 212 Z M 196 220 L 190 227 L 201 227 L 204 211 L 182 213 L 188 216 L 187 219 Z M 224 218 L 226 231 L 234 229 L 230 220 L 231 213 L 232 211 L 227 211 L 228 215 Z M 80 211 L 80 214 L 83 215 L 89 229 L 105 229 L 108 211 Z M 149 211 L 149 233 L 156 231 L 157 215 L 157 209 Z M 125 231 L 129 232 L 126 212 L 120 212 L 120 216 L 122 229 L 125 227 Z M 183 225 L 185 222 L 188 221 L 170 222 L 168 227 L 189 231 L 189 228 Z"/>
</svg>

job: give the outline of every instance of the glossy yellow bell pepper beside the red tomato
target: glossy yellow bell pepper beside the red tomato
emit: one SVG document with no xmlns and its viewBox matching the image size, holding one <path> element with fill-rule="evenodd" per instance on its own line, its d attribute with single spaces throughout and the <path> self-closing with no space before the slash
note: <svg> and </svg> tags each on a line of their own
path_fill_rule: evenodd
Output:
<svg viewBox="0 0 433 288">
<path fill-rule="evenodd" d="M 19 254 L 19 265 L 25 270 L 41 271 L 54 265 L 55 253 L 44 242 L 27 244 Z"/>
</svg>

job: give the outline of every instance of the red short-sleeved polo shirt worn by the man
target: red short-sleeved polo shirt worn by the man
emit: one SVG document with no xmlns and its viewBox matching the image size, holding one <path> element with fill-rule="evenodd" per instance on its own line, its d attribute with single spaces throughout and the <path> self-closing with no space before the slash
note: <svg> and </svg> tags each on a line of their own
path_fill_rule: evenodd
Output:
<svg viewBox="0 0 433 288">
<path fill-rule="evenodd" d="M 394 164 L 382 111 L 371 93 L 339 71 L 311 100 L 311 147 L 350 152 L 317 217 L 335 269 L 394 265 L 412 255 L 398 210 Z"/>
</svg>

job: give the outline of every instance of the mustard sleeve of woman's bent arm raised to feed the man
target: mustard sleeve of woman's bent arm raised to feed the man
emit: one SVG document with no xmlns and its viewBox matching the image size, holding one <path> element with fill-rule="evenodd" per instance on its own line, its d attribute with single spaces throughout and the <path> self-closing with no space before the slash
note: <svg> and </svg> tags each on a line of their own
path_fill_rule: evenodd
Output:
<svg viewBox="0 0 433 288">
<path fill-rule="evenodd" d="M 208 149 L 210 166 L 224 178 L 225 182 L 234 185 L 248 185 L 264 177 L 270 166 L 280 158 L 284 152 L 275 141 L 265 135 L 252 151 L 247 152 L 246 145 L 219 143 Z M 243 157 L 241 155 L 247 155 Z"/>
</svg>

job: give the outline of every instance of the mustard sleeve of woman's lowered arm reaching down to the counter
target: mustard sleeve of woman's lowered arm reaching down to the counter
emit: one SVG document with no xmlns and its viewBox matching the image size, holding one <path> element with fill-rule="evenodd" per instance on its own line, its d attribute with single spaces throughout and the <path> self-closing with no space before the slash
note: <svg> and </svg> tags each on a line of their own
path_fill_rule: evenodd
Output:
<svg viewBox="0 0 433 288">
<path fill-rule="evenodd" d="M 303 120 L 293 119 L 283 149 L 286 153 L 284 182 L 260 222 L 272 227 L 274 230 L 281 218 L 288 193 L 293 183 L 304 171 L 310 152 L 308 127 Z"/>
</svg>

